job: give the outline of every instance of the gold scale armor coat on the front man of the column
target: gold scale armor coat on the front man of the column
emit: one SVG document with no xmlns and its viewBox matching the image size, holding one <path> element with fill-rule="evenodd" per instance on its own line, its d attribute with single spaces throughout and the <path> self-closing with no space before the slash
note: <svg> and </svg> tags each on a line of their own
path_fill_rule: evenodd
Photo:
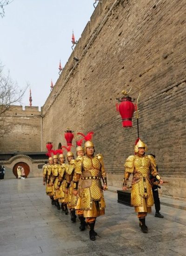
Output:
<svg viewBox="0 0 186 256">
<path fill-rule="evenodd" d="M 80 199 L 76 209 L 83 210 L 84 217 L 97 217 L 105 214 L 105 200 L 101 178 L 106 177 L 103 156 L 96 155 L 78 157 L 75 174 L 80 176 L 78 194 Z M 75 177 L 75 176 L 74 176 Z M 75 181 L 75 179 L 74 179 Z"/>
</svg>

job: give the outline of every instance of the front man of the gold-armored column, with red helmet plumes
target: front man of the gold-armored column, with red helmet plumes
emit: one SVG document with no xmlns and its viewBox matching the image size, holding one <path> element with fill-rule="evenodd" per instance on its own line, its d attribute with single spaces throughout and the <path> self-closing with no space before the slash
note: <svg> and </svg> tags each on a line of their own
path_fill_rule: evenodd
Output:
<svg viewBox="0 0 186 256">
<path fill-rule="evenodd" d="M 80 134 L 80 133 L 79 133 Z M 81 134 L 83 135 L 83 134 Z M 93 132 L 83 135 L 85 142 L 85 156 L 79 156 L 76 159 L 73 188 L 78 188 L 80 196 L 80 209 L 83 210 L 83 215 L 86 217 L 87 223 L 90 227 L 89 236 L 91 240 L 95 240 L 97 233 L 94 231 L 96 217 L 105 214 L 105 200 L 103 190 L 107 189 L 106 172 L 104 168 L 103 156 L 94 155 L 95 149 L 92 139 Z M 78 175 L 80 186 L 78 187 Z M 101 184 L 103 180 L 103 187 Z"/>
</svg>

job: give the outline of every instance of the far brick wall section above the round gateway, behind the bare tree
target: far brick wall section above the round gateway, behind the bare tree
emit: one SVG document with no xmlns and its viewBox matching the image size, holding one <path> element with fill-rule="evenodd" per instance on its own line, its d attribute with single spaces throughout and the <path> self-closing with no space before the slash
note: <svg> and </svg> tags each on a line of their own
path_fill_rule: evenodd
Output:
<svg viewBox="0 0 186 256">
<path fill-rule="evenodd" d="M 41 113 L 38 107 L 11 106 L 6 112 L 11 130 L 0 138 L 0 152 L 41 150 Z"/>
</svg>

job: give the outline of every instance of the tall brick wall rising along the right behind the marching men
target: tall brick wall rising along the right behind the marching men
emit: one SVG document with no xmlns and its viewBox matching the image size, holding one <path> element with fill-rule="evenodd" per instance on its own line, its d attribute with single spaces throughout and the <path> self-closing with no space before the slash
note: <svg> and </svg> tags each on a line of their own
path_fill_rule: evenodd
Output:
<svg viewBox="0 0 186 256">
<path fill-rule="evenodd" d="M 96 12 L 99 13 L 99 12 Z M 156 155 L 159 172 L 183 177 L 186 166 L 186 2 L 102 1 L 97 26 L 81 42 L 42 108 L 43 150 L 66 143 L 64 131 L 94 131 L 96 153 L 109 174 L 122 174 L 133 154 L 133 128 L 122 128 L 115 110 L 124 88 L 138 86 L 140 138 Z M 72 68 L 73 67 L 73 68 Z M 55 96 L 57 95 L 57 96 Z M 138 92 L 131 93 L 137 98 Z M 135 114 L 134 114 L 135 115 Z"/>
</svg>

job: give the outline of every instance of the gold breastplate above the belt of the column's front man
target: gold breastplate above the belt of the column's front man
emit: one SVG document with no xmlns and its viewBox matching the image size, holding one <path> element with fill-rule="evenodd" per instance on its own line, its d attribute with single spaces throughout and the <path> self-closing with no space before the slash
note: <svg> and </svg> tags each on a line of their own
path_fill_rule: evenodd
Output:
<svg viewBox="0 0 186 256">
<path fill-rule="evenodd" d="M 89 158 L 84 157 L 83 158 L 83 177 L 89 176 L 100 176 L 100 162 L 96 157 Z"/>
</svg>

